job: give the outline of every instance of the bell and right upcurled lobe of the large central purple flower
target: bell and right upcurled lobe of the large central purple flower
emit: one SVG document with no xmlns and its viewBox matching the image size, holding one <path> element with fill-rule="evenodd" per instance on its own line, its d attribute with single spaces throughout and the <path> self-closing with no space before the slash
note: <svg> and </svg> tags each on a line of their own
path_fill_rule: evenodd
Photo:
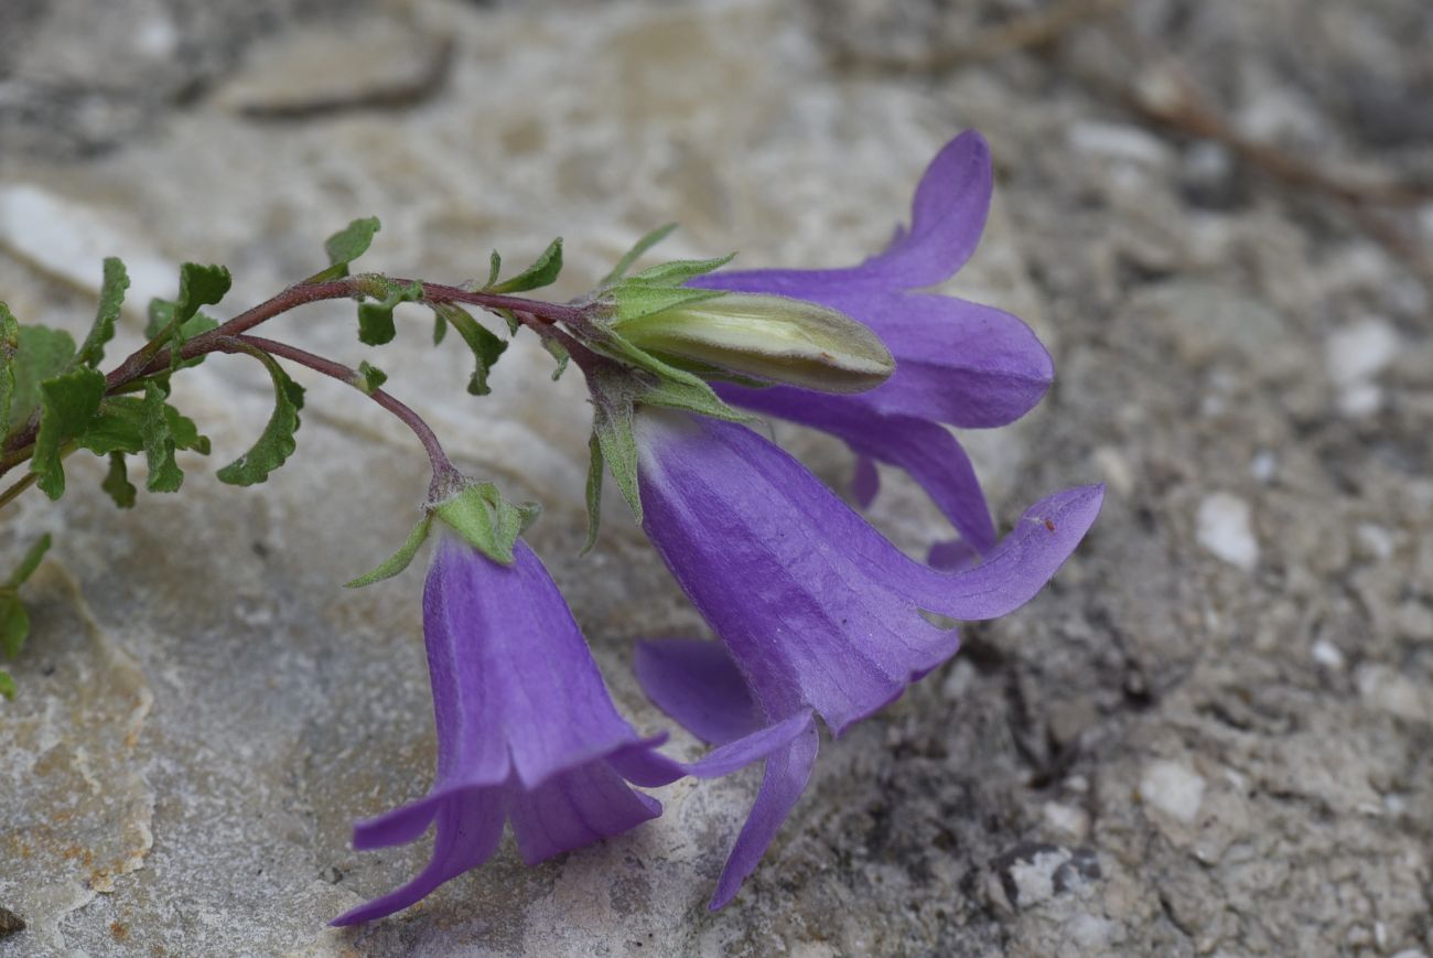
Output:
<svg viewBox="0 0 1433 958">
<path fill-rule="evenodd" d="M 818 711 L 840 734 L 959 647 L 920 610 L 1000 615 L 1030 598 L 1099 509 L 1099 489 L 1039 503 L 990 559 L 936 572 L 901 554 L 745 426 L 636 417 L 643 529 L 767 714 Z M 1027 513 L 1027 516 L 1033 516 Z"/>
</svg>

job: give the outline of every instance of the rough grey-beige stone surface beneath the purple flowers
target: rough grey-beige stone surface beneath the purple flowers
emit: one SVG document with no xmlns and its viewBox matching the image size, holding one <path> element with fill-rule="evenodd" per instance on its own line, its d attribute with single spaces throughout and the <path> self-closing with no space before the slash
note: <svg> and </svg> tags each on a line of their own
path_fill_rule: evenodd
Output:
<svg viewBox="0 0 1433 958">
<path fill-rule="evenodd" d="M 347 845 L 354 817 L 430 779 L 420 577 L 337 587 L 407 529 L 421 456 L 301 377 L 299 455 L 262 492 L 192 462 L 179 496 L 116 513 L 75 460 L 59 508 L 24 499 L 0 528 L 6 555 L 57 533 L 21 696 L 0 703 L 0 906 L 27 924 L 0 957 L 1433 949 L 1429 291 L 1344 207 L 1142 125 L 1109 87 L 1132 50 L 1176 49 L 1241 133 L 1350 176 L 1427 176 L 1433 17 L 1419 0 L 1138 0 L 972 65 L 980 30 L 1043 4 L 952 6 L 0 7 L 0 295 L 69 328 L 105 251 L 143 264 L 143 295 L 165 293 L 166 264 L 224 261 L 241 308 L 367 214 L 384 221 L 371 264 L 433 278 L 562 232 L 560 294 L 674 218 L 674 254 L 840 264 L 977 126 L 997 208 L 954 288 L 1032 321 L 1059 370 L 1026 422 L 972 436 L 982 475 L 1006 519 L 1063 485 L 1111 486 L 1045 595 L 824 746 L 724 912 L 705 899 L 751 773 L 663 789 L 661 820 L 555 863 L 504 849 L 337 932 L 324 921 L 424 858 Z M 373 53 L 447 43 L 431 82 Z M 1426 251 L 1433 207 L 1399 212 Z M 466 360 L 413 318 L 378 357 L 394 390 L 470 470 L 547 505 L 535 545 L 619 704 L 663 726 L 631 640 L 699 624 L 618 501 L 575 558 L 575 377 L 549 383 L 523 343 L 474 403 Z M 126 323 L 112 354 L 138 341 Z M 275 334 L 357 361 L 351 326 L 312 308 Z M 222 463 L 267 414 L 264 380 L 225 359 L 186 379 Z M 833 443 L 778 435 L 844 482 Z M 911 549 L 940 538 L 887 479 L 874 521 Z M 1221 558 L 1211 535 L 1228 546 L 1231 528 Z"/>
</svg>

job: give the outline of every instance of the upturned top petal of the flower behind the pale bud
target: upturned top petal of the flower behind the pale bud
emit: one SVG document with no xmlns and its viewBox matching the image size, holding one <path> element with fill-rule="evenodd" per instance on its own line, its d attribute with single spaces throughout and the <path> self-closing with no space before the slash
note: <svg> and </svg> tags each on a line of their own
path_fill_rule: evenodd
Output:
<svg viewBox="0 0 1433 958">
<path fill-rule="evenodd" d="M 845 270 L 745 270 L 699 277 L 709 290 L 775 293 L 814 300 L 821 291 L 919 290 L 936 285 L 966 264 L 980 241 L 990 209 L 990 148 L 967 131 L 950 141 L 926 168 L 911 208 L 910 229 L 887 250 Z"/>
</svg>

